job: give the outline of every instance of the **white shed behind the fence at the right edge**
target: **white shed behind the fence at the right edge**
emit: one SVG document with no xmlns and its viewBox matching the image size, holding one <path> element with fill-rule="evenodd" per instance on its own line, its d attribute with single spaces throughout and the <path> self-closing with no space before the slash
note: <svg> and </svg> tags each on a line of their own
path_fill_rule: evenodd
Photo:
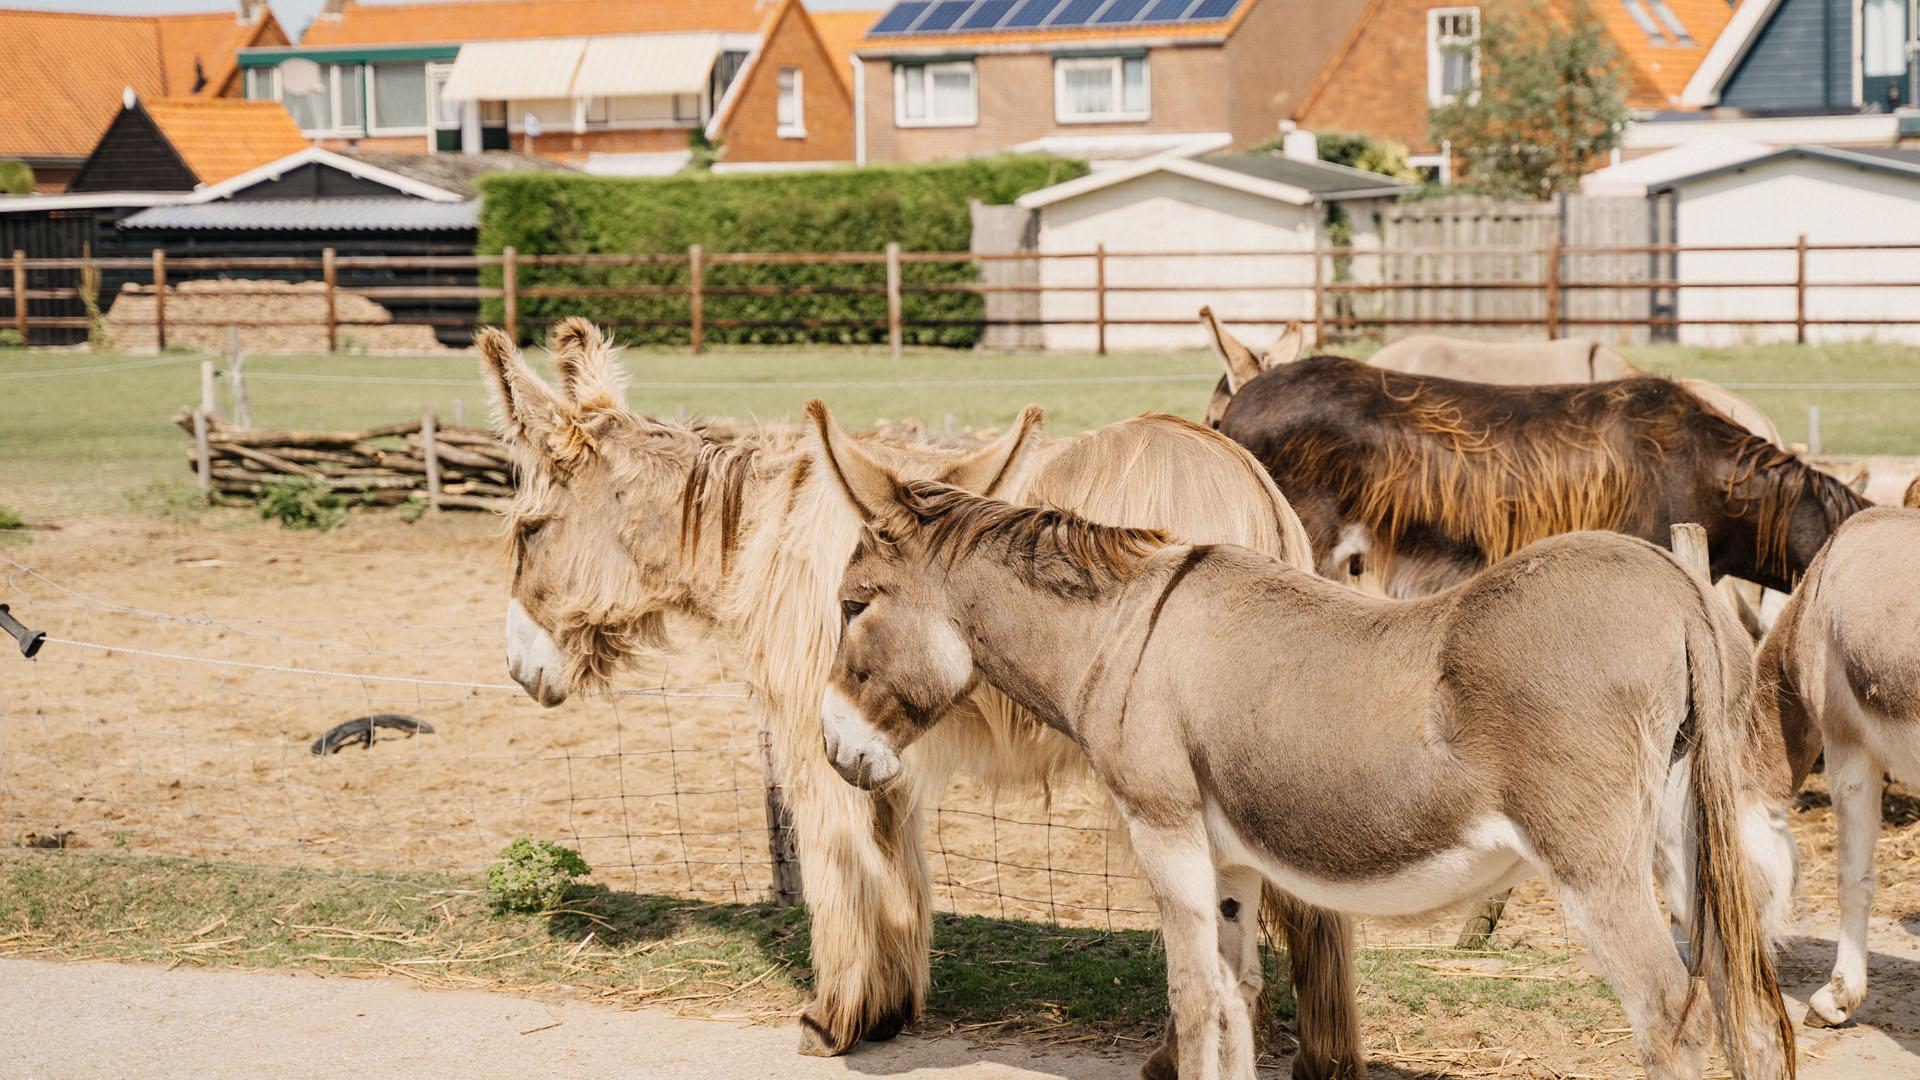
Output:
<svg viewBox="0 0 1920 1080">
<path fill-rule="evenodd" d="M 1820 288 L 1820 282 L 1920 282 L 1920 250 L 1822 252 L 1822 244 L 1920 244 L 1920 150 L 1836 150 L 1789 146 L 1772 154 L 1649 184 L 1670 198 L 1682 246 L 1784 244 L 1807 236 L 1807 317 L 1847 325 L 1807 329 L 1807 340 L 1880 338 L 1920 342 L 1920 325 L 1878 319 L 1920 317 L 1920 288 Z M 1682 288 L 1680 340 L 1741 344 L 1793 340 L 1795 252 L 1682 252 L 1682 286 L 1755 282 L 1749 288 Z M 1764 284 L 1761 284 L 1764 282 Z M 1686 325 L 1688 319 L 1736 319 Z M 1741 325 L 1738 319 L 1786 319 Z"/>
</svg>

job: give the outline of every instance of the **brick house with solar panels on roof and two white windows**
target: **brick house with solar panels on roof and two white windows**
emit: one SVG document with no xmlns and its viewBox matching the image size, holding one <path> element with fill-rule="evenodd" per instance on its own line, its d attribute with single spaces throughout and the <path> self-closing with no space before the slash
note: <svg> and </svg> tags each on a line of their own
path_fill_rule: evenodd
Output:
<svg viewBox="0 0 1920 1080">
<path fill-rule="evenodd" d="M 1363 0 L 902 0 L 856 48 L 860 161 L 1114 161 L 1273 138 Z"/>
</svg>

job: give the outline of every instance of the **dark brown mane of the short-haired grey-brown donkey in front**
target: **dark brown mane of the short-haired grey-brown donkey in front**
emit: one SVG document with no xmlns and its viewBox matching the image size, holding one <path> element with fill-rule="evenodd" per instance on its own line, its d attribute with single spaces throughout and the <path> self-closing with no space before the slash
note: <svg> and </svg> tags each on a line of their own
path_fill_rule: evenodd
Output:
<svg viewBox="0 0 1920 1080">
<path fill-rule="evenodd" d="M 1004 503 L 935 480 L 904 482 L 899 496 L 925 530 L 929 557 L 950 567 L 979 544 L 1004 544 L 1023 555 L 1016 567 L 1029 584 L 1062 596 L 1127 580 L 1154 552 L 1175 542 L 1158 528 L 1094 525 L 1064 509 Z M 1062 563 L 1075 573 L 1046 573 Z"/>
</svg>

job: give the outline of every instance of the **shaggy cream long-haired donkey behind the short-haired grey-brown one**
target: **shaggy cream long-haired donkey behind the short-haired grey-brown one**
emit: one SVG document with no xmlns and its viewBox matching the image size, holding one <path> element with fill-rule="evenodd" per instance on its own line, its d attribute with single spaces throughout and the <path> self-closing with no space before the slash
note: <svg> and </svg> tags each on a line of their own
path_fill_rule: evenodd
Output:
<svg viewBox="0 0 1920 1080">
<path fill-rule="evenodd" d="M 945 738 L 918 748 L 916 784 L 876 796 L 841 784 L 820 746 L 818 705 L 839 634 L 833 590 L 860 523 L 837 480 L 799 450 L 718 444 L 628 411 L 624 373 L 582 319 L 555 332 L 557 390 L 505 334 L 484 331 L 478 346 L 518 467 L 507 513 L 509 671 L 530 696 L 557 705 L 605 684 L 630 657 L 670 648 L 668 613 L 728 638 L 774 740 L 812 911 L 814 997 L 801 1015 L 801 1051 L 845 1053 L 862 1038 L 891 1038 L 918 1017 L 927 986 L 922 807 L 956 769 L 996 786 L 1033 786 L 1085 778 L 1085 759 L 983 688 Z M 1029 409 L 996 444 L 964 455 L 866 446 L 906 477 L 1309 565 L 1294 511 L 1225 436 L 1148 415 L 1039 446 L 1039 419 Z M 1348 920 L 1281 894 L 1269 894 L 1261 913 L 1286 938 L 1302 1001 L 1294 1074 L 1361 1076 Z M 1154 1061 L 1171 1074 L 1175 1047 Z"/>
</svg>

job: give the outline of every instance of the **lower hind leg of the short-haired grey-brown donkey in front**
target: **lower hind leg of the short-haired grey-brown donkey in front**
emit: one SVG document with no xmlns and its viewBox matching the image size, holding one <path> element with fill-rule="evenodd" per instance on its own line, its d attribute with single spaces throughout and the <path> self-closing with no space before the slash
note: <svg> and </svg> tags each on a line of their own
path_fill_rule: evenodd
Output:
<svg viewBox="0 0 1920 1080">
<path fill-rule="evenodd" d="M 1688 970 L 1651 884 L 1613 878 L 1578 894 L 1563 888 L 1561 905 L 1620 995 L 1647 1080 L 1697 1080 L 1707 1067 L 1713 1009 L 1705 997 L 1690 999 Z"/>
</svg>

